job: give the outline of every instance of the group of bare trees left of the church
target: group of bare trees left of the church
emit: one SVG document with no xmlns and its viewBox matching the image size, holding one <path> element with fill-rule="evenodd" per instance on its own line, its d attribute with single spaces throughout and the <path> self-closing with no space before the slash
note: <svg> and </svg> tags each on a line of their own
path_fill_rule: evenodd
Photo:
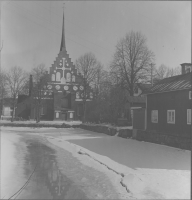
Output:
<svg viewBox="0 0 192 200">
<path fill-rule="evenodd" d="M 33 75 L 34 87 L 32 92 L 33 95 L 37 97 L 33 103 L 37 106 L 41 105 L 41 93 L 38 91 L 41 90 L 45 83 L 45 80 L 42 79 L 45 73 L 46 67 L 44 64 L 40 64 L 33 68 L 31 72 L 26 72 L 23 68 L 18 66 L 14 66 L 8 71 L 2 70 L 0 73 L 0 115 L 2 115 L 3 105 L 5 104 L 6 98 L 10 98 L 12 108 L 11 119 L 13 121 L 18 95 L 29 95 L 29 74 Z M 44 83 L 42 83 L 42 81 L 44 81 Z"/>
</svg>

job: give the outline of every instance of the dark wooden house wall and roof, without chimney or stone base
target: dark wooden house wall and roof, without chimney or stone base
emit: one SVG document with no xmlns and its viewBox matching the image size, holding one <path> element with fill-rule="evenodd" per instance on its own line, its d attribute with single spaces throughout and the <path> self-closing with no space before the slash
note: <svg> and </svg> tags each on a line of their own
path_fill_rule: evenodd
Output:
<svg viewBox="0 0 192 200">
<path fill-rule="evenodd" d="M 191 73 L 165 78 L 147 93 L 147 130 L 191 131 Z"/>
</svg>

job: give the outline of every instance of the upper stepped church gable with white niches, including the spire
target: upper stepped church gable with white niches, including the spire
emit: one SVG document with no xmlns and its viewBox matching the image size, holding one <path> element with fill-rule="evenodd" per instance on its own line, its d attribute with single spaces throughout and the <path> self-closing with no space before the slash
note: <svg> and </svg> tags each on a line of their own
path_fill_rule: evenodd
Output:
<svg viewBox="0 0 192 200">
<path fill-rule="evenodd" d="M 76 93 L 76 98 L 83 97 L 83 76 L 78 73 L 65 46 L 64 16 L 60 52 L 50 67 L 47 90 L 54 93 Z M 92 92 L 90 94 L 92 98 Z"/>
</svg>

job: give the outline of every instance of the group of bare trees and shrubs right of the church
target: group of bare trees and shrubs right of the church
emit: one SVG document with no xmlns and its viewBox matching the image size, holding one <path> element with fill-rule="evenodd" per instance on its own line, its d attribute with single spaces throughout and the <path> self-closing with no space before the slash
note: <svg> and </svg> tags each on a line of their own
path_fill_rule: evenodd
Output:
<svg viewBox="0 0 192 200">
<path fill-rule="evenodd" d="M 91 86 L 95 94 L 87 110 L 87 119 L 115 122 L 127 97 L 134 95 L 137 83 L 157 83 L 163 78 L 180 74 L 179 67 L 155 67 L 154 62 L 155 55 L 149 50 L 146 37 L 133 31 L 118 41 L 107 70 L 93 54 L 81 56 L 76 61 L 76 67 L 83 74 L 85 92 L 87 86 Z M 85 105 L 84 101 L 84 113 Z"/>
</svg>

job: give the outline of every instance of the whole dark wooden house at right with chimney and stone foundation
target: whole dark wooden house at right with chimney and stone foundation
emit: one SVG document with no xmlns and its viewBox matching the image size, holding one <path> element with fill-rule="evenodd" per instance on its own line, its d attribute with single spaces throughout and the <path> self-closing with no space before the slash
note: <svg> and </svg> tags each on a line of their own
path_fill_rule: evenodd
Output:
<svg viewBox="0 0 192 200">
<path fill-rule="evenodd" d="M 145 130 L 137 131 L 137 138 L 190 149 L 192 65 L 181 66 L 181 75 L 159 81 L 146 93 Z"/>
</svg>

